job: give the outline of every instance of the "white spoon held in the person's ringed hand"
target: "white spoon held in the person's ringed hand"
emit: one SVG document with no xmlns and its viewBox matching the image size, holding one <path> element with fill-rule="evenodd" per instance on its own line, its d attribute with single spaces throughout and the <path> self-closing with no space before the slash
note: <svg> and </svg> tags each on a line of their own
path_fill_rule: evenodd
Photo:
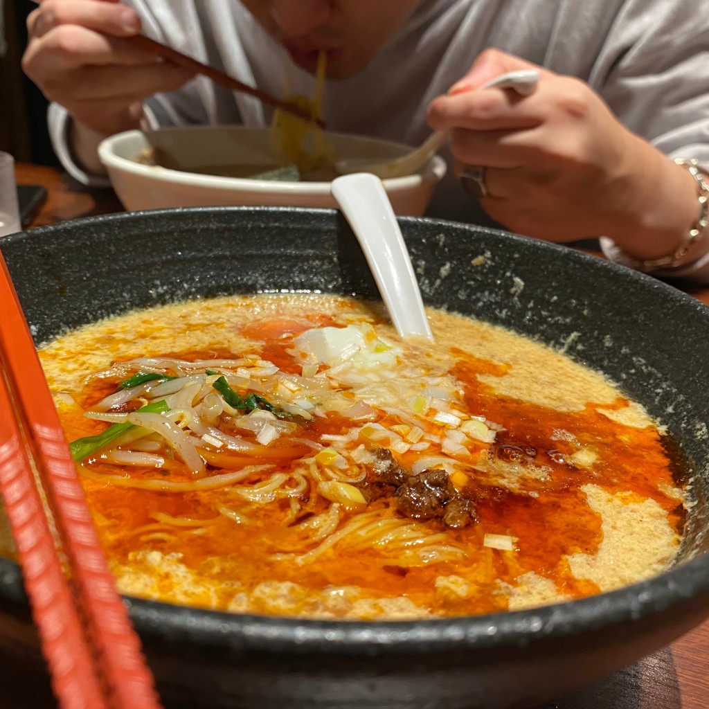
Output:
<svg viewBox="0 0 709 709">
<path fill-rule="evenodd" d="M 513 89 L 520 96 L 528 96 L 534 91 L 537 82 L 539 82 L 539 72 L 536 69 L 520 69 L 516 72 L 500 74 L 480 86 L 480 89 L 490 89 L 497 86 L 500 89 Z M 435 133 L 431 133 L 415 150 L 396 157 L 394 160 L 372 161 L 369 158 L 355 157 L 350 160 L 337 160 L 335 168 L 340 174 L 371 172 L 381 179 L 403 177 L 413 174 L 423 167 L 445 145 L 446 140 L 448 140 L 448 131 L 437 130 Z"/>
</svg>

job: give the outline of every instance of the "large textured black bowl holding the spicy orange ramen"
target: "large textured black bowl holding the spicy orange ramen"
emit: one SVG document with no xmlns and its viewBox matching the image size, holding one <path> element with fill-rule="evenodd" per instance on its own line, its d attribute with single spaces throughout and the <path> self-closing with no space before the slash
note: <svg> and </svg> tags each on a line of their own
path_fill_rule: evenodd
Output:
<svg viewBox="0 0 709 709">
<path fill-rule="evenodd" d="M 604 372 L 666 424 L 692 476 L 673 569 L 580 601 L 471 618 L 330 622 L 126 599 L 169 708 L 530 707 L 664 647 L 709 615 L 709 309 L 566 247 L 403 218 L 426 303 L 504 325 Z M 1 244 L 36 342 L 196 296 L 376 298 L 335 211 L 195 208 L 67 222 Z M 481 257 L 481 258 L 478 258 Z M 21 574 L 0 560 L 3 686 L 46 686 Z"/>
</svg>

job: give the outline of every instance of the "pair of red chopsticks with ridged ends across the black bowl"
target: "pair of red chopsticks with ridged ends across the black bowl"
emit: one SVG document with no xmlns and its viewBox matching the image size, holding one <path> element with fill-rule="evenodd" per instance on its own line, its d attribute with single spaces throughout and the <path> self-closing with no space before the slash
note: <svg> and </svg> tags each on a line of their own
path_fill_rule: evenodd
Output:
<svg viewBox="0 0 709 709">
<path fill-rule="evenodd" d="M 159 709 L 1 254 L 0 303 L 0 489 L 52 688 L 62 709 Z"/>
</svg>

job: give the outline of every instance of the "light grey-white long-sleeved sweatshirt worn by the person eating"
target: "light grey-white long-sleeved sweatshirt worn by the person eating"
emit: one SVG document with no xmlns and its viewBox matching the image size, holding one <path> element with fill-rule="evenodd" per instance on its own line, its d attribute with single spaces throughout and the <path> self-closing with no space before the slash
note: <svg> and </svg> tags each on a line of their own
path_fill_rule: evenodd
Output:
<svg viewBox="0 0 709 709">
<path fill-rule="evenodd" d="M 312 94 L 313 77 L 262 30 L 237 0 L 124 0 L 145 33 L 242 82 L 281 95 Z M 328 129 L 415 145 L 429 133 L 425 111 L 485 48 L 523 57 L 587 82 L 630 130 L 672 157 L 709 167 L 709 12 L 704 0 L 422 0 L 357 76 L 328 82 Z M 267 125 L 257 99 L 196 77 L 153 96 L 156 125 Z M 50 135 L 67 170 L 87 184 L 67 149 L 67 115 L 50 107 Z M 450 154 L 445 157 L 450 160 Z M 449 169 L 428 216 L 491 225 Z M 620 258 L 605 245 L 610 257 Z M 673 275 L 683 275 L 675 269 Z M 687 272 L 709 282 L 709 255 Z"/>
</svg>

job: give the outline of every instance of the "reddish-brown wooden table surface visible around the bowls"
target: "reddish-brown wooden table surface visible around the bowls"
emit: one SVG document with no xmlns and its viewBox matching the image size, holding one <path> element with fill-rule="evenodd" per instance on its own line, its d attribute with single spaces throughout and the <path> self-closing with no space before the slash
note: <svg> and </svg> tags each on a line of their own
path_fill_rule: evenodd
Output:
<svg viewBox="0 0 709 709">
<path fill-rule="evenodd" d="M 32 226 L 122 211 L 110 190 L 87 189 L 49 167 L 18 164 L 19 184 L 41 184 L 48 199 Z M 709 288 L 691 293 L 709 305 Z M 707 709 L 709 622 L 660 652 L 538 709 Z"/>
</svg>

